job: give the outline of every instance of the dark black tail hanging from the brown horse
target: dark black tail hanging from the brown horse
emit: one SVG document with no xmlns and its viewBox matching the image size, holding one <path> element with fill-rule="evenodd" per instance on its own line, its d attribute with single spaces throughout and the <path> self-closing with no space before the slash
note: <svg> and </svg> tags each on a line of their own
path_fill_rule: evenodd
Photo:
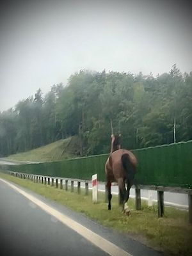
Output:
<svg viewBox="0 0 192 256">
<path fill-rule="evenodd" d="M 129 157 L 129 154 L 127 153 L 122 155 L 122 166 L 125 170 L 125 177 L 127 179 L 127 183 L 132 186 L 132 184 L 134 184 L 135 167 L 134 164 L 131 163 L 131 159 Z"/>
</svg>

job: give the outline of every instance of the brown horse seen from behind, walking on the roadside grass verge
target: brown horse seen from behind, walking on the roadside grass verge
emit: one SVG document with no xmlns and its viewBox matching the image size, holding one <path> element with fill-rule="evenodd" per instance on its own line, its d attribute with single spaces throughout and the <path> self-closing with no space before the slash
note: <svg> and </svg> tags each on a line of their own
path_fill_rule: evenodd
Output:
<svg viewBox="0 0 192 256">
<path fill-rule="evenodd" d="M 117 182 L 120 204 L 123 211 L 130 214 L 127 201 L 136 172 L 136 157 L 129 150 L 120 148 L 120 136 L 111 135 L 111 152 L 105 164 L 106 191 L 108 192 L 108 210 L 111 210 L 111 182 Z M 125 188 L 127 184 L 127 188 Z"/>
</svg>

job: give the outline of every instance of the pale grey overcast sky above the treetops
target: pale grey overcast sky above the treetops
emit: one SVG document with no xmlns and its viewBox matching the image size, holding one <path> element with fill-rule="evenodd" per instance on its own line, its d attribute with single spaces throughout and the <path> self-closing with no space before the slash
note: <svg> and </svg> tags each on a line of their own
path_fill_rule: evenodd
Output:
<svg viewBox="0 0 192 256">
<path fill-rule="evenodd" d="M 190 1 L 4 1 L 0 111 L 49 92 L 80 69 L 138 74 L 192 70 Z"/>
</svg>

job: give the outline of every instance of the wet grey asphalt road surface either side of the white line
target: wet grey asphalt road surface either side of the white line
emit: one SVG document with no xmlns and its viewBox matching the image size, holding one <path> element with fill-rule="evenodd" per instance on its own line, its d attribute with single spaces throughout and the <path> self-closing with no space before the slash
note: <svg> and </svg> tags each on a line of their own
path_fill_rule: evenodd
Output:
<svg viewBox="0 0 192 256">
<path fill-rule="evenodd" d="M 15 188 L 20 187 L 15 186 Z M 50 212 L 45 212 L 35 201 L 33 202 L 33 200 L 21 195 L 20 192 L 10 188 L 0 179 L 0 255 L 2 256 L 108 255 L 100 248 L 103 238 L 116 244 L 125 252 L 129 252 L 132 256 L 161 255 L 128 236 L 122 236 L 122 234 L 88 220 L 82 214 L 70 211 L 63 205 L 58 205 L 27 189 L 20 189 L 42 204 L 48 205 L 47 207 L 51 207 L 60 214 L 65 214 L 70 220 L 80 223 L 83 227 L 91 230 L 90 232 L 93 234 L 99 235 L 99 243 L 94 245 L 92 237 L 86 239 L 84 235 L 77 234 L 76 230 L 70 228 L 70 223 L 64 225 L 59 218 Z M 74 227 L 76 229 L 76 225 Z M 118 255 L 117 253 L 116 256 Z"/>
</svg>

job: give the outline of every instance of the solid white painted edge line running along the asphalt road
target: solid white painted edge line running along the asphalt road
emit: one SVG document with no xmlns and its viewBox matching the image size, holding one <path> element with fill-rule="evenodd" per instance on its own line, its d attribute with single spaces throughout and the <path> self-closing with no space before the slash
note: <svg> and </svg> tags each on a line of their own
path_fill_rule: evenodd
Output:
<svg viewBox="0 0 192 256">
<path fill-rule="evenodd" d="M 115 244 L 109 242 L 108 240 L 104 239 L 103 237 L 95 234 L 92 232 L 92 230 L 84 227 L 83 225 L 77 223 L 76 221 L 68 218 L 65 214 L 57 211 L 56 209 L 50 207 L 49 205 L 45 204 L 38 198 L 35 198 L 35 196 L 29 195 L 22 189 L 17 188 L 10 182 L 7 182 L 6 180 L 0 179 L 4 183 L 6 183 L 11 188 L 15 189 L 17 192 L 19 192 L 21 195 L 25 196 L 31 202 L 38 205 L 41 209 L 43 209 L 48 214 L 51 214 L 58 220 L 60 220 L 64 225 L 67 227 L 72 228 L 74 231 L 76 231 L 78 234 L 86 238 L 91 243 L 95 244 L 95 246 L 99 247 L 104 252 L 108 253 L 111 256 L 132 256 L 130 253 L 125 252 L 120 247 L 116 246 Z"/>
</svg>

